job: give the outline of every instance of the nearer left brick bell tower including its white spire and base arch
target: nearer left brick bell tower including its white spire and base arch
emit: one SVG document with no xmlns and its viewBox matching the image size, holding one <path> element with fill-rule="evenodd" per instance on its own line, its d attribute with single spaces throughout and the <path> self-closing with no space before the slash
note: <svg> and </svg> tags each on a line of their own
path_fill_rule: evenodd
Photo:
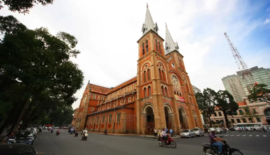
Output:
<svg viewBox="0 0 270 155">
<path fill-rule="evenodd" d="M 137 134 L 148 134 L 149 127 L 158 130 L 166 126 L 163 96 L 166 93 L 164 85 L 168 83 L 168 69 L 164 39 L 158 30 L 147 5 L 142 37 L 137 41 Z"/>
</svg>

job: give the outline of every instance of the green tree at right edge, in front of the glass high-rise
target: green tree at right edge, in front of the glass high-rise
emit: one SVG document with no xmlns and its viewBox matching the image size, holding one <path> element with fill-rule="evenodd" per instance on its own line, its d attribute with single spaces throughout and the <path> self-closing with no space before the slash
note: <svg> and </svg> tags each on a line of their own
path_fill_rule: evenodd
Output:
<svg viewBox="0 0 270 155">
<path fill-rule="evenodd" d="M 270 97 L 268 95 L 270 94 L 270 90 L 265 87 L 268 87 L 268 85 L 262 83 L 254 85 L 254 88 L 250 91 L 250 95 L 248 95 L 248 99 L 252 102 L 264 100 L 270 103 Z"/>
</svg>

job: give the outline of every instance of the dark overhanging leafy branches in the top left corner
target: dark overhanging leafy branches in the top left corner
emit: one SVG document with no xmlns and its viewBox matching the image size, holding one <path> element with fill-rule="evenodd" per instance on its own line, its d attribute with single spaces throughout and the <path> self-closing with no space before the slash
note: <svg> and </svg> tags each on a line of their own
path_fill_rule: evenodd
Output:
<svg viewBox="0 0 270 155">
<path fill-rule="evenodd" d="M 0 0 L 0 9 L 3 8 L 2 2 L 4 5 L 8 6 L 10 11 L 18 11 L 19 13 L 29 13 L 29 9 L 34 7 L 35 4 L 40 3 L 43 6 L 52 4 L 53 0 Z"/>
</svg>

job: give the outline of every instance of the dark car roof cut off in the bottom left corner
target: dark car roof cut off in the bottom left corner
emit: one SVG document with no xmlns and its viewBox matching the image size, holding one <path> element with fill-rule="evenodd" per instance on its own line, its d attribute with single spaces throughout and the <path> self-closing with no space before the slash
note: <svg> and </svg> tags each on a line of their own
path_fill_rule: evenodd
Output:
<svg viewBox="0 0 270 155">
<path fill-rule="evenodd" d="M 1 154 L 38 155 L 37 150 L 28 144 L 0 144 Z"/>
</svg>

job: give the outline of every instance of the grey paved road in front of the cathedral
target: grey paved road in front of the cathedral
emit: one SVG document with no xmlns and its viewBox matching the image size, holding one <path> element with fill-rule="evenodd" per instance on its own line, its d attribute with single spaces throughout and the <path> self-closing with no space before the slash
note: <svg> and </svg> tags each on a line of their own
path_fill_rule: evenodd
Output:
<svg viewBox="0 0 270 155">
<path fill-rule="evenodd" d="M 80 134 L 79 134 L 80 135 Z M 176 138 L 177 147 L 160 147 L 157 139 L 141 136 L 113 136 L 88 134 L 87 140 L 61 131 L 59 136 L 43 130 L 38 133 L 34 147 L 41 155 L 66 155 L 66 154 L 118 154 L 118 155 L 203 155 L 202 142 L 209 142 L 208 136 L 196 138 Z M 259 132 L 231 132 L 224 134 L 228 144 L 239 148 L 244 155 L 269 155 L 269 133 Z M 227 136 L 226 136 L 227 135 Z M 239 135 L 239 136 L 237 136 Z M 245 135 L 245 136 L 243 136 Z M 249 136 L 252 135 L 252 136 Z M 259 135 L 259 136 L 256 136 Z M 266 135 L 266 136 L 263 136 Z"/>
</svg>

